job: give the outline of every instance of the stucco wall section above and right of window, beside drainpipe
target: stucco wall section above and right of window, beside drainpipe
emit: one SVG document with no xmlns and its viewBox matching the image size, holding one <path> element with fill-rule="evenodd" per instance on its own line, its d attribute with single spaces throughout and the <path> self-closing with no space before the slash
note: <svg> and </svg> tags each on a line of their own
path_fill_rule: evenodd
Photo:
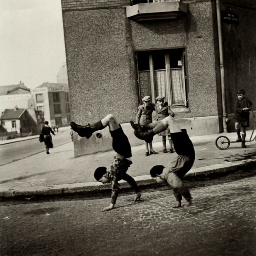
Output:
<svg viewBox="0 0 256 256">
<path fill-rule="evenodd" d="M 189 108 L 176 117 L 218 115 L 212 3 L 188 4 L 179 20 L 129 22 L 135 51 L 186 47 Z"/>
</svg>

